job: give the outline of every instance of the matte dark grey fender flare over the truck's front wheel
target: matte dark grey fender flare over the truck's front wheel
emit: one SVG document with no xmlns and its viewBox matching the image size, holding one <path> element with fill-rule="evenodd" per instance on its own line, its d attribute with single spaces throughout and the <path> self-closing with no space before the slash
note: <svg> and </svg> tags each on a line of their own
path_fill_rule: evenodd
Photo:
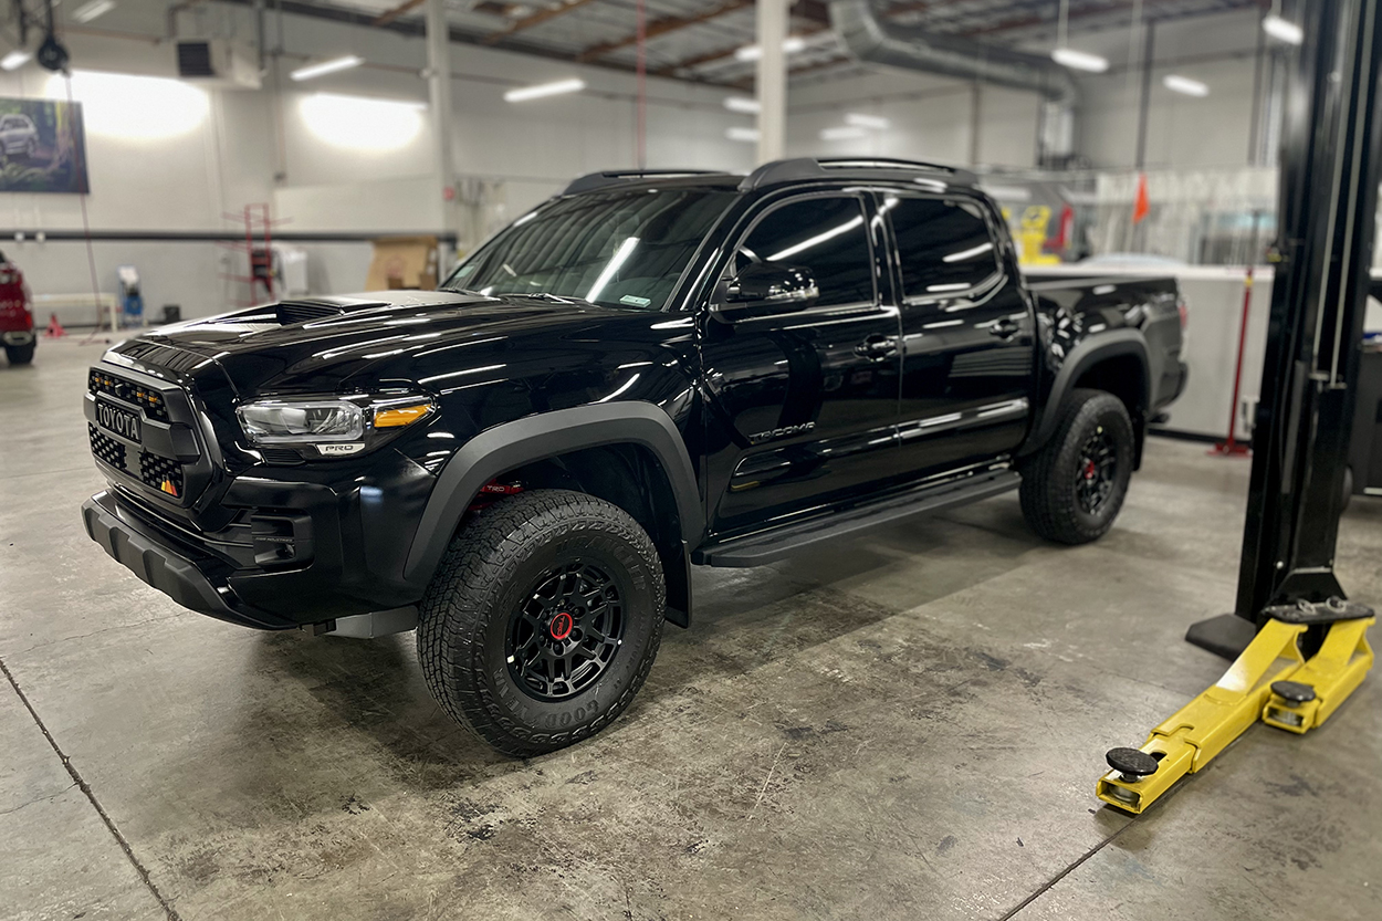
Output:
<svg viewBox="0 0 1382 921">
<path fill-rule="evenodd" d="M 431 578 L 480 488 L 504 470 L 611 444 L 636 444 L 652 452 L 676 496 L 681 539 L 695 546 L 705 516 L 695 467 L 676 423 L 651 402 L 591 404 L 506 422 L 462 445 L 437 476 L 408 550 L 404 578 L 409 582 Z"/>
</svg>

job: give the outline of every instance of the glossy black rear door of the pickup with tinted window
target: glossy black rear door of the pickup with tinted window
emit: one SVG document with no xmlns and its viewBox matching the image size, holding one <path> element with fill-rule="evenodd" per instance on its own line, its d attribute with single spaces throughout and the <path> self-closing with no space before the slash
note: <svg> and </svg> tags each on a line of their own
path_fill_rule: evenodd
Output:
<svg viewBox="0 0 1382 921">
<path fill-rule="evenodd" d="M 902 322 L 898 436 L 936 474 L 1016 451 L 1035 386 L 1035 318 L 977 199 L 886 192 Z"/>
</svg>

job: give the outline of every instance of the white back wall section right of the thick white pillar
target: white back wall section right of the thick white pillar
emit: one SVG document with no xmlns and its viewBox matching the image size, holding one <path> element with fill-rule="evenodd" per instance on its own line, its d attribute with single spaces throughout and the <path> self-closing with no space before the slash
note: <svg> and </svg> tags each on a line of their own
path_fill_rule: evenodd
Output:
<svg viewBox="0 0 1382 921">
<path fill-rule="evenodd" d="M 1148 105 L 1147 166 L 1244 166 L 1249 158 L 1253 73 L 1259 11 L 1195 17 L 1155 29 Z M 1095 167 L 1136 163 L 1137 112 L 1142 98 L 1143 40 L 1129 29 L 1077 32 L 1071 46 L 1108 58 L 1103 75 L 1079 76 L 1077 152 Z M 1046 55 L 1045 46 L 1027 51 Z M 1209 84 L 1209 95 L 1191 98 L 1162 86 L 1168 73 Z M 789 97 L 789 149 L 796 154 L 872 154 L 934 158 L 990 166 L 1032 166 L 1036 156 L 1039 100 L 1035 93 L 985 86 L 977 120 L 977 156 L 972 158 L 974 120 L 972 84 L 911 71 L 872 66 L 850 77 L 821 77 L 793 84 Z M 858 141 L 822 142 L 818 131 L 839 124 L 846 112 L 862 111 L 893 120 L 886 134 Z"/>
</svg>

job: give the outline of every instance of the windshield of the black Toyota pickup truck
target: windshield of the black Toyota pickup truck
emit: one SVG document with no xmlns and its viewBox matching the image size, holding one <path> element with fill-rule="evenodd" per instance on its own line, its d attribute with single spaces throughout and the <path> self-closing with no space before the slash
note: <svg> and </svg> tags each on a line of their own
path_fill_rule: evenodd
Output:
<svg viewBox="0 0 1382 921">
<path fill-rule="evenodd" d="M 727 191 L 638 189 L 556 199 L 500 231 L 442 288 L 662 310 L 734 198 Z"/>
</svg>

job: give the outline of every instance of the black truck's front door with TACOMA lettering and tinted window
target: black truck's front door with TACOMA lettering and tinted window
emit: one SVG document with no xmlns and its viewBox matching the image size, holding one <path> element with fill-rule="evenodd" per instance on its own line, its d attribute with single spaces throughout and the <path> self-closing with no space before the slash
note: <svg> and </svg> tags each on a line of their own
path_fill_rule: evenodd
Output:
<svg viewBox="0 0 1382 921">
<path fill-rule="evenodd" d="M 824 510 L 896 466 L 901 328 L 879 292 L 883 239 L 869 213 L 862 195 L 796 196 L 770 205 L 734 249 L 724 278 L 753 261 L 797 266 L 820 297 L 702 324 L 716 534 Z"/>
</svg>

